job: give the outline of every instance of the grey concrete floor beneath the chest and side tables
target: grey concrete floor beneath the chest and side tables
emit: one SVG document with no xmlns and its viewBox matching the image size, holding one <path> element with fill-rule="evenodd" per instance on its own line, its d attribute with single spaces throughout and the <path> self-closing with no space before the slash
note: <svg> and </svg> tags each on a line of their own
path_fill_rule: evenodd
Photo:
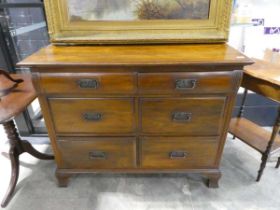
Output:
<svg viewBox="0 0 280 210">
<path fill-rule="evenodd" d="M 2 130 L 0 135 L 0 152 L 5 152 L 8 147 Z M 50 152 L 47 144 L 35 147 Z M 58 188 L 54 162 L 38 161 L 24 154 L 17 191 L 6 209 L 279 210 L 280 169 L 276 170 L 271 160 L 261 182 L 256 183 L 259 163 L 258 153 L 229 136 L 219 189 L 208 189 L 201 176 L 178 174 L 79 175 L 71 179 L 68 188 Z M 3 155 L 0 155 L 0 166 L 2 198 L 10 177 L 9 161 Z"/>
</svg>

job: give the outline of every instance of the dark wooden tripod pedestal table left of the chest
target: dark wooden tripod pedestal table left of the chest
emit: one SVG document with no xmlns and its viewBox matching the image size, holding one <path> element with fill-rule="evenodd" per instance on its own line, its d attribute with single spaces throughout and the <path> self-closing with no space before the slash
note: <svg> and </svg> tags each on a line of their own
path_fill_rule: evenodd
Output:
<svg viewBox="0 0 280 210">
<path fill-rule="evenodd" d="M 6 207 L 17 184 L 19 156 L 27 152 L 36 158 L 44 160 L 52 160 L 54 157 L 38 152 L 28 141 L 21 140 L 13 121 L 13 118 L 20 114 L 36 98 L 31 74 L 9 75 L 0 70 L 0 76 L 0 124 L 3 124 L 9 140 L 9 158 L 12 166 L 10 184 L 1 203 L 1 207 Z"/>
</svg>

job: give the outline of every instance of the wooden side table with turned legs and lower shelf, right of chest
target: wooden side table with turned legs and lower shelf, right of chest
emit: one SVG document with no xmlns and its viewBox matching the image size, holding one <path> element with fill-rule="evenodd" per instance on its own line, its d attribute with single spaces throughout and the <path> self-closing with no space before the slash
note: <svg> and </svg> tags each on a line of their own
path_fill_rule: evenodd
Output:
<svg viewBox="0 0 280 210">
<path fill-rule="evenodd" d="M 248 90 L 280 102 L 280 65 L 255 59 L 245 67 L 242 87 L 245 92 L 237 118 L 231 120 L 229 132 L 262 154 L 262 163 L 256 181 L 260 181 L 270 155 L 280 150 L 280 107 L 272 133 L 243 117 Z M 276 168 L 280 166 L 278 158 Z"/>
</svg>

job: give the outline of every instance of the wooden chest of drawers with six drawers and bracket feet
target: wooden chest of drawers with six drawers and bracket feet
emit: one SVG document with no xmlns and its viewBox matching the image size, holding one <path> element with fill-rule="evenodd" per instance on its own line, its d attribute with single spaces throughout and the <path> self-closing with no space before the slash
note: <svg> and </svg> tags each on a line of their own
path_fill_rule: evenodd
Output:
<svg viewBox="0 0 280 210">
<path fill-rule="evenodd" d="M 25 59 L 55 153 L 76 173 L 202 173 L 219 164 L 244 65 L 224 44 L 48 46 Z"/>
</svg>

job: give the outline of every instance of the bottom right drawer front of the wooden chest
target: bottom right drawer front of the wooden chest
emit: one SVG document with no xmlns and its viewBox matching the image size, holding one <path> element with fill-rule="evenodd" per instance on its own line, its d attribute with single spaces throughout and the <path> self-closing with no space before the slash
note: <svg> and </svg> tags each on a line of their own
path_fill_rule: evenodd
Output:
<svg viewBox="0 0 280 210">
<path fill-rule="evenodd" d="M 203 168 L 215 165 L 214 137 L 145 137 L 141 140 L 143 168 Z"/>
</svg>

